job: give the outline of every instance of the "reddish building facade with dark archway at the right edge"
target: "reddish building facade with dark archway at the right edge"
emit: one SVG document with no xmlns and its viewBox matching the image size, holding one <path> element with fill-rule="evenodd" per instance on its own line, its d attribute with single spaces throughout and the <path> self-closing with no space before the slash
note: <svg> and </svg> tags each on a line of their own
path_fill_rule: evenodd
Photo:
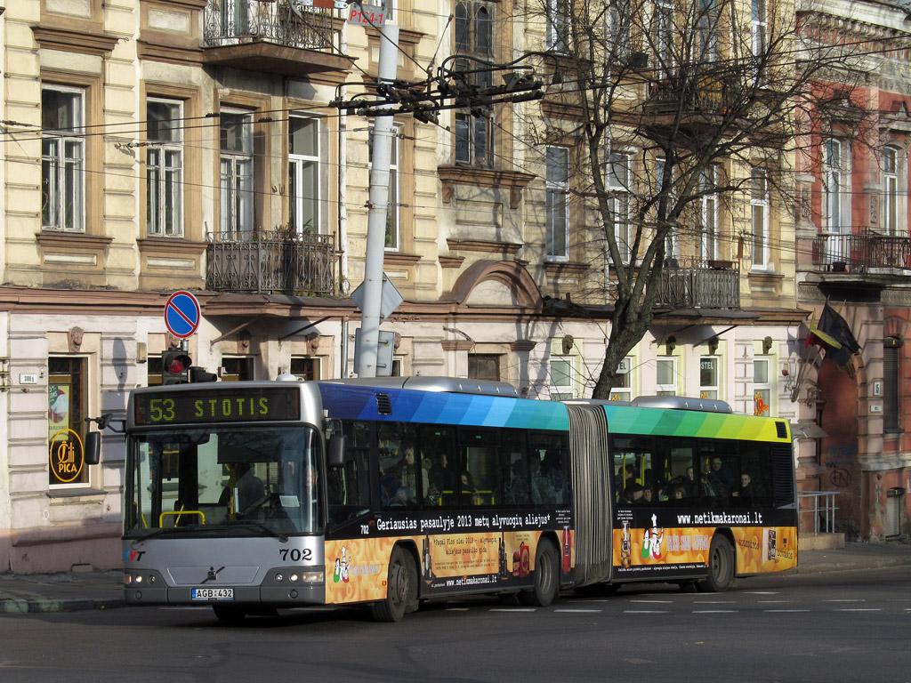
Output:
<svg viewBox="0 0 911 683">
<path fill-rule="evenodd" d="M 847 367 L 811 345 L 793 398 L 817 440 L 799 462 L 807 490 L 832 494 L 836 527 L 870 540 L 906 537 L 908 424 L 908 149 L 911 89 L 906 10 L 898 3 L 801 5 L 811 45 L 864 46 L 819 87 L 797 163 L 797 298 L 819 321 L 828 303 L 861 350 Z M 858 81 L 855 66 L 866 76 Z M 841 76 L 841 77 L 839 77 Z M 844 363 L 843 363 L 844 365 Z"/>
</svg>

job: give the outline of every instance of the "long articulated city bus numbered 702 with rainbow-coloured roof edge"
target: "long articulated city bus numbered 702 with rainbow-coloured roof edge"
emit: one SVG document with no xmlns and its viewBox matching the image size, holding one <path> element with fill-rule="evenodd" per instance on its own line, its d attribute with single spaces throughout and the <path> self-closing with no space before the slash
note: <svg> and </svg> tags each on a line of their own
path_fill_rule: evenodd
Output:
<svg viewBox="0 0 911 683">
<path fill-rule="evenodd" d="M 363 604 L 395 621 L 427 598 L 722 591 L 797 562 L 788 424 L 720 402 L 544 402 L 421 377 L 216 382 L 135 390 L 127 439 L 129 605 L 233 620 Z"/>
</svg>

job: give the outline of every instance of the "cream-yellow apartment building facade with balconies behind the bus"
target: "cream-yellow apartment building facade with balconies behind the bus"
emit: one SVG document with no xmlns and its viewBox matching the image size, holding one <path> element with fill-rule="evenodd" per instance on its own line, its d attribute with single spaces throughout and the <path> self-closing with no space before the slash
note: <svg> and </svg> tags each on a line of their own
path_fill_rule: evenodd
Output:
<svg viewBox="0 0 911 683">
<path fill-rule="evenodd" d="M 433 75 L 444 56 L 547 49 L 547 22 L 519 9 L 398 0 L 398 76 Z M 95 466 L 67 454 L 86 418 L 122 419 L 128 391 L 158 381 L 176 342 L 171 292 L 199 299 L 188 352 L 221 381 L 355 372 L 372 122 L 332 103 L 372 90 L 380 36 L 341 9 L 281 0 L 19 0 L 0 36 L 0 570 L 118 566 L 122 437 L 106 432 Z M 384 271 L 404 302 L 382 326 L 393 372 L 590 395 L 610 264 L 563 161 L 578 139 L 527 135 L 535 117 L 578 121 L 554 99 L 445 110 L 436 124 L 395 117 Z M 614 178 L 643 158 L 622 152 Z M 704 395 L 814 421 L 783 372 L 804 319 L 782 246 L 793 214 L 748 184 L 749 197 L 706 199 L 683 226 L 660 314 L 614 398 Z"/>
</svg>

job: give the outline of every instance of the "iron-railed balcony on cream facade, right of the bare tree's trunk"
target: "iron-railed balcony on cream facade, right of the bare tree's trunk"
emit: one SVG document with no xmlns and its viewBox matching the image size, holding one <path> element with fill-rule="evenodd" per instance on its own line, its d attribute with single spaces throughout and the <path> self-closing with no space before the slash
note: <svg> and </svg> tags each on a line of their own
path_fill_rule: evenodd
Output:
<svg viewBox="0 0 911 683">
<path fill-rule="evenodd" d="M 661 270 L 658 300 L 671 309 L 740 308 L 740 271 L 732 261 L 670 259 Z"/>
</svg>

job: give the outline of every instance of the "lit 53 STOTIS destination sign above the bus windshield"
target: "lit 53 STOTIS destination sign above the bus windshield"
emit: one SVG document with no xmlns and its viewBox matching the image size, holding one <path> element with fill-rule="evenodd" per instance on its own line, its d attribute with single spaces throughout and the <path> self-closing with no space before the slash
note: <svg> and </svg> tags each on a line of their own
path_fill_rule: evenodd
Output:
<svg viewBox="0 0 911 683">
<path fill-rule="evenodd" d="M 231 382 L 234 383 L 234 382 Z M 296 387 L 135 394 L 137 424 L 249 423 L 301 419 Z"/>
</svg>

